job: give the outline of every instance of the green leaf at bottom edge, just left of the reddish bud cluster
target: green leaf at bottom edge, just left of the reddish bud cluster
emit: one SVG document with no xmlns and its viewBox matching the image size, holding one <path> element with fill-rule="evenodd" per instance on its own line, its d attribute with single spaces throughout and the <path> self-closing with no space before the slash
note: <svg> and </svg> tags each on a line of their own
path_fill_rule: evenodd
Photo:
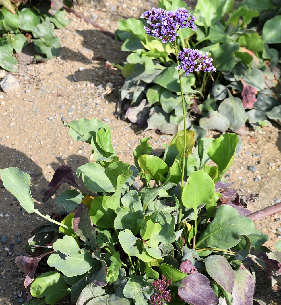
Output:
<svg viewBox="0 0 281 305">
<path fill-rule="evenodd" d="M 135 305 L 147 305 L 152 295 L 152 279 L 144 280 L 144 276 L 130 275 L 128 283 L 124 288 L 124 296 L 135 300 Z"/>
</svg>

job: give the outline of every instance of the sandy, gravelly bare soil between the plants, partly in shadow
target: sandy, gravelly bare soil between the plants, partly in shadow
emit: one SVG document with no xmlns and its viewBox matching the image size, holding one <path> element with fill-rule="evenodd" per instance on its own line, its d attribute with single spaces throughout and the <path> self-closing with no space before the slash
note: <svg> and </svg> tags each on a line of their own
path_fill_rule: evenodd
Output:
<svg viewBox="0 0 281 305">
<path fill-rule="evenodd" d="M 194 5 L 194 2 L 189 2 Z M 136 17 L 146 9 L 157 6 L 157 1 L 95 0 L 76 7 L 80 13 L 114 32 L 120 18 Z M 16 166 L 31 174 L 31 192 L 35 207 L 41 213 L 52 214 L 56 209 L 55 198 L 41 203 L 42 193 L 60 165 L 77 167 L 90 162 L 91 148 L 74 142 L 62 119 L 97 118 L 111 128 L 113 145 L 120 160 L 133 163 L 133 150 L 143 137 L 151 137 L 154 149 L 169 143 L 170 135 L 157 135 L 116 117 L 118 89 L 124 79 L 106 69 L 106 61 L 121 63 L 126 53 L 121 43 L 101 31 L 68 14 L 73 20 L 62 30 L 56 30 L 61 40 L 57 58 L 44 63 L 30 64 L 32 53 L 25 49 L 18 54 L 19 70 L 14 73 L 20 82 L 17 92 L 0 92 L 0 168 Z M 107 83 L 113 84 L 110 94 L 103 95 Z M 208 136 L 216 136 L 209 132 Z M 281 200 L 281 131 L 273 123 L 259 130 L 247 128 L 241 136 L 243 147 L 226 176 L 240 195 L 256 194 L 254 201 L 247 201 L 251 211 L 271 206 Z M 255 165 L 252 172 L 249 166 Z M 255 179 L 257 178 L 257 179 Z M 255 182 L 256 181 L 256 182 Z M 275 250 L 281 238 L 281 213 L 255 221 L 258 230 L 269 236 L 266 246 Z M 28 215 L 19 202 L 5 188 L 0 188 L 0 304 L 11 305 L 26 301 L 24 274 L 14 260 L 24 253 L 24 244 L 31 237 L 30 231 L 42 219 Z M 278 287 L 277 287 L 278 288 Z M 276 288 L 276 289 L 277 289 Z M 264 271 L 257 273 L 256 297 L 267 304 L 281 304 L 278 290 L 271 288 Z M 69 303 L 69 299 L 60 302 Z"/>
</svg>

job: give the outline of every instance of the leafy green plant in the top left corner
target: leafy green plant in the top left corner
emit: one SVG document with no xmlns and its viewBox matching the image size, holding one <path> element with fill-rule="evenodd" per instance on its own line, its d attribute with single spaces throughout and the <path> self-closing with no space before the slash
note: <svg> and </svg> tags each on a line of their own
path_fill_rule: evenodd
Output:
<svg viewBox="0 0 281 305">
<path fill-rule="evenodd" d="M 60 1 L 51 1 L 51 8 L 45 3 L 41 7 L 25 6 L 22 2 L 1 0 L 0 4 L 0 66 L 10 72 L 16 72 L 18 61 L 13 53 L 19 53 L 28 45 L 28 40 L 34 43 L 34 61 L 45 61 L 59 54 L 59 38 L 54 28 L 63 28 L 70 21 L 66 19 L 66 11 L 60 10 Z M 32 2 L 30 3 L 32 7 Z M 61 2 L 63 5 L 63 2 Z M 71 2 L 72 4 L 72 2 Z M 68 5 L 70 3 L 68 2 Z"/>
</svg>

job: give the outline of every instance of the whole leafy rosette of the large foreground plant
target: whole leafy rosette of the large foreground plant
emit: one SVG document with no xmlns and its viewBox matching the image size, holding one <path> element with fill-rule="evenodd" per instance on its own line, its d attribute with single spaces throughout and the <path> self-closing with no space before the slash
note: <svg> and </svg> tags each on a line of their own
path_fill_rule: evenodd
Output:
<svg viewBox="0 0 281 305">
<path fill-rule="evenodd" d="M 72 186 L 56 198 L 65 211 L 61 222 L 34 208 L 28 174 L 16 167 L 0 170 L 4 187 L 27 213 L 49 220 L 32 232 L 26 247 L 31 257 L 16 258 L 27 275 L 29 299 L 33 297 L 26 304 L 54 305 L 70 294 L 77 305 L 146 305 L 157 299 L 151 298 L 154 293 L 163 292 L 159 297 L 171 296 L 169 304 L 175 305 L 252 305 L 257 262 L 268 277 L 281 274 L 281 253 L 263 246 L 268 236 L 255 229 L 245 216 L 249 210 L 222 178 L 233 163 L 236 134 L 201 138 L 191 153 L 195 133 L 187 132 L 183 147 L 183 132 L 178 132 L 157 156 L 149 138 L 143 138 L 133 166 L 116 156 L 110 128 L 103 122 L 64 124 L 74 141 L 91 145 L 95 162 L 77 169 L 80 182 L 69 167 L 56 170 L 43 201 L 62 183 Z M 181 195 L 183 170 L 186 185 Z M 139 190 L 133 186 L 138 174 L 143 181 Z M 42 257 L 55 269 L 34 279 Z M 155 291 L 162 275 L 169 287 Z"/>
</svg>

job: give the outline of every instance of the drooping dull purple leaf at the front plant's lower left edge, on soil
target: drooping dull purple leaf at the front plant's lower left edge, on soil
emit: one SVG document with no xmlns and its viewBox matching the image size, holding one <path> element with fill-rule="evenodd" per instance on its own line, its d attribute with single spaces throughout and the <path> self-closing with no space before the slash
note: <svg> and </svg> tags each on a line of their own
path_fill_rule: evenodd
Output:
<svg viewBox="0 0 281 305">
<path fill-rule="evenodd" d="M 20 268 L 20 270 L 23 271 L 23 273 L 26 275 L 25 280 L 24 280 L 24 287 L 28 292 L 27 300 L 31 300 L 31 298 L 32 298 L 31 293 L 30 293 L 30 286 L 31 286 L 32 282 L 34 281 L 34 274 L 35 274 L 39 261 L 41 260 L 41 258 L 43 258 L 44 256 L 46 256 L 52 252 L 54 252 L 54 251 L 44 253 L 37 257 L 27 257 L 24 255 L 19 255 L 16 257 L 15 263 L 16 263 L 17 267 Z"/>
</svg>

